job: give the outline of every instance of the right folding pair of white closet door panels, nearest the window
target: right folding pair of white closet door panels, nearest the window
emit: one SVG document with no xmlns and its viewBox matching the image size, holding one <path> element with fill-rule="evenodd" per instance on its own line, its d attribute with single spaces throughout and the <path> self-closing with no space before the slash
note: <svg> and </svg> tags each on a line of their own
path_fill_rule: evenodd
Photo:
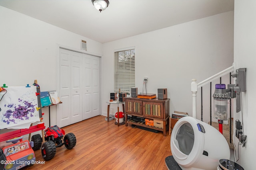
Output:
<svg viewBox="0 0 256 170">
<path fill-rule="evenodd" d="M 82 119 L 100 115 L 100 57 L 83 54 Z"/>
</svg>

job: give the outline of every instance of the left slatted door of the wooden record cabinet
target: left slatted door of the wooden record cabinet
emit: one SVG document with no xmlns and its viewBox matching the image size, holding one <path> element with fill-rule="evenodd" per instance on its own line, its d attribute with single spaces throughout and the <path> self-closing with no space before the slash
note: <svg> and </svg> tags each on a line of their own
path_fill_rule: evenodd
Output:
<svg viewBox="0 0 256 170">
<path fill-rule="evenodd" d="M 126 100 L 126 113 L 142 115 L 142 101 Z"/>
</svg>

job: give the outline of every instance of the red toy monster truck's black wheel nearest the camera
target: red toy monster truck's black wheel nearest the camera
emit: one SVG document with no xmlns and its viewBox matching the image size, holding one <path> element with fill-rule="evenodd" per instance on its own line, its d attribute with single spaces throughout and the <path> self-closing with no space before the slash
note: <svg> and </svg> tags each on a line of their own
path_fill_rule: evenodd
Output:
<svg viewBox="0 0 256 170">
<path fill-rule="evenodd" d="M 56 146 L 54 141 L 47 141 L 43 143 L 41 152 L 44 160 L 52 159 L 56 154 Z"/>
</svg>

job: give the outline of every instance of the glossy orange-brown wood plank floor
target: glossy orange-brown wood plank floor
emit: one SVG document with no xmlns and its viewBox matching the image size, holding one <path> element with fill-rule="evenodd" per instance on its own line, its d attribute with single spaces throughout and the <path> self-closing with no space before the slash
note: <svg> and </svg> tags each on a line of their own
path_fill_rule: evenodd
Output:
<svg viewBox="0 0 256 170">
<path fill-rule="evenodd" d="M 171 155 L 170 135 L 133 129 L 128 125 L 107 122 L 96 116 L 67 127 L 66 133 L 76 135 L 76 146 L 56 149 L 52 160 L 22 170 L 167 170 L 165 158 Z M 41 150 L 36 161 L 44 161 Z"/>
</svg>

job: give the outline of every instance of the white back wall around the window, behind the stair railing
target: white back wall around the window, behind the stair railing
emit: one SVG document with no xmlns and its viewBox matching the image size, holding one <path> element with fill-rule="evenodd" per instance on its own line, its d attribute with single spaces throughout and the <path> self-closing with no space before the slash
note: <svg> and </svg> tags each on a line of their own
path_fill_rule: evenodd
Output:
<svg viewBox="0 0 256 170">
<path fill-rule="evenodd" d="M 170 113 L 192 115 L 192 78 L 200 82 L 233 63 L 234 12 L 226 12 L 103 44 L 102 114 L 114 90 L 114 50 L 135 46 L 136 87 L 142 92 L 148 77 L 147 92 L 168 89 Z M 115 113 L 115 112 L 114 112 Z"/>
</svg>

